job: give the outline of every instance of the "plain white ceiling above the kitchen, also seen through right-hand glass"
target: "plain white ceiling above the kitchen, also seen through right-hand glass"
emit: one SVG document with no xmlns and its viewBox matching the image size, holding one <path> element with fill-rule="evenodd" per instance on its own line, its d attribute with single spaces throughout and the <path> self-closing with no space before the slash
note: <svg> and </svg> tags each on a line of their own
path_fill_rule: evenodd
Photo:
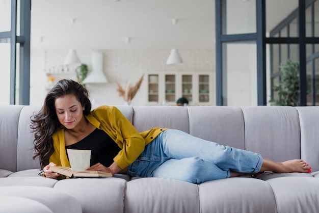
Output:
<svg viewBox="0 0 319 213">
<path fill-rule="evenodd" d="M 266 0 L 266 4 L 269 30 L 298 7 L 298 0 Z M 31 48 L 201 50 L 214 46 L 214 0 L 32 0 Z"/>
</svg>

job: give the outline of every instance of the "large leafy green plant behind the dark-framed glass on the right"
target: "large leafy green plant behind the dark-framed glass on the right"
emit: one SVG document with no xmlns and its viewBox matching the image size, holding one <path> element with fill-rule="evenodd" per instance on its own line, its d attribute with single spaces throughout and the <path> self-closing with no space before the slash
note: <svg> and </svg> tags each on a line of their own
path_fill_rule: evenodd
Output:
<svg viewBox="0 0 319 213">
<path fill-rule="evenodd" d="M 274 86 L 279 99 L 272 99 L 272 105 L 293 106 L 299 105 L 299 62 L 287 61 L 286 65 L 280 65 L 281 82 Z"/>
</svg>

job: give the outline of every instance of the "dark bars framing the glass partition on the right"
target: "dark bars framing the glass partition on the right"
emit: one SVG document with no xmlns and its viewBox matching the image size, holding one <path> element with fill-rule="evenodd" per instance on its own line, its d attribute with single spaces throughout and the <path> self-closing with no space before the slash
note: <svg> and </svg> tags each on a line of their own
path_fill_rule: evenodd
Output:
<svg viewBox="0 0 319 213">
<path fill-rule="evenodd" d="M 223 44 L 227 42 L 245 41 L 247 39 L 256 41 L 257 46 L 257 104 L 267 105 L 267 77 L 266 77 L 266 44 L 299 44 L 299 63 L 300 63 L 300 105 L 307 105 L 307 76 L 306 76 L 306 44 L 319 42 L 317 37 L 306 37 L 305 29 L 305 10 L 316 0 L 299 0 L 299 7 L 295 13 L 298 14 L 298 37 L 266 37 L 266 0 L 256 1 L 256 33 L 223 35 L 223 15 L 226 10 L 227 0 L 216 0 L 216 105 L 227 105 L 223 100 L 223 93 L 226 89 L 226 77 L 223 76 Z M 224 65 L 225 66 L 225 65 Z"/>
</svg>

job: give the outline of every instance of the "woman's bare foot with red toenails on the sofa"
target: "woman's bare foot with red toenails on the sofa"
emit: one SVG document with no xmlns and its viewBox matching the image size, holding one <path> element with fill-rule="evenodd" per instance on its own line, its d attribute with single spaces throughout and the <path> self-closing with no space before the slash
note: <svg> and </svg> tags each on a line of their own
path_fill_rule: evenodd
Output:
<svg viewBox="0 0 319 213">
<path fill-rule="evenodd" d="M 293 159 L 282 163 L 271 161 L 270 159 L 263 158 L 263 163 L 260 172 L 271 171 L 276 173 L 289 173 L 289 172 L 302 172 L 310 173 L 311 167 L 302 159 Z"/>
</svg>

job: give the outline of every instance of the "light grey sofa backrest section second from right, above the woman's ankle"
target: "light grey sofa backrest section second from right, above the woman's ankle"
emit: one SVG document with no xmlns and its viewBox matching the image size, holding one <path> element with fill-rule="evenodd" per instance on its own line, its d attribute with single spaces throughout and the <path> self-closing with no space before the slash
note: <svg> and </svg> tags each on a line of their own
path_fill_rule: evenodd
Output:
<svg viewBox="0 0 319 213">
<path fill-rule="evenodd" d="M 244 107 L 245 149 L 275 162 L 300 158 L 300 125 L 293 107 Z"/>
</svg>

